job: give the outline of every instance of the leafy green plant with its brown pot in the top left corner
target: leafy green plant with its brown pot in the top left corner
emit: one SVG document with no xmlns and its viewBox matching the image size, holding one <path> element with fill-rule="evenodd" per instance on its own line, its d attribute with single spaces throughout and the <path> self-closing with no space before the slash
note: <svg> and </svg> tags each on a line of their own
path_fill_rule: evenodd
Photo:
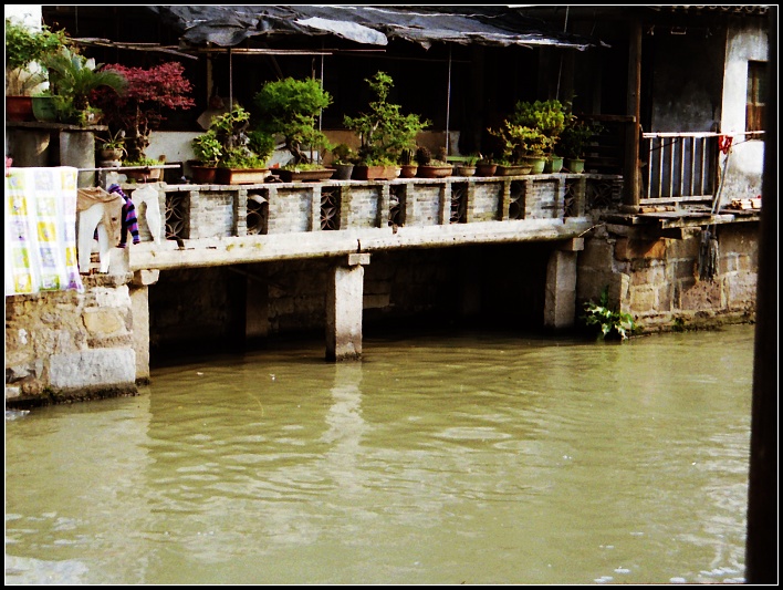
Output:
<svg viewBox="0 0 783 590">
<path fill-rule="evenodd" d="M 46 82 L 43 60 L 66 46 L 64 31 L 44 25 L 34 30 L 17 19 L 6 19 L 6 117 L 9 121 L 32 121 L 33 96 Z"/>
</svg>

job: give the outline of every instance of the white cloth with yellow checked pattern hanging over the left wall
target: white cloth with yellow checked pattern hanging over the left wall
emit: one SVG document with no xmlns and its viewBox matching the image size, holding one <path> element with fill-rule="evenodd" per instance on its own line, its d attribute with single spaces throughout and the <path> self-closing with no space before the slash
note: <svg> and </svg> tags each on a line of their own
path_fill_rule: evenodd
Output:
<svg viewBox="0 0 783 590">
<path fill-rule="evenodd" d="M 70 166 L 6 168 L 6 294 L 84 292 Z"/>
</svg>

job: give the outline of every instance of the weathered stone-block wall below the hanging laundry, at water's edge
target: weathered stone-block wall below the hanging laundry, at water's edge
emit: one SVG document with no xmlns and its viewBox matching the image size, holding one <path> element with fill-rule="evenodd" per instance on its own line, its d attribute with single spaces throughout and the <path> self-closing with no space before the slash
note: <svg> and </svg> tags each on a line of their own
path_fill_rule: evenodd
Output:
<svg viewBox="0 0 783 590">
<path fill-rule="evenodd" d="M 136 393 L 129 277 L 84 277 L 84 293 L 6 298 L 6 397 L 44 401 Z M 140 359 L 144 361 L 144 359 Z"/>
</svg>

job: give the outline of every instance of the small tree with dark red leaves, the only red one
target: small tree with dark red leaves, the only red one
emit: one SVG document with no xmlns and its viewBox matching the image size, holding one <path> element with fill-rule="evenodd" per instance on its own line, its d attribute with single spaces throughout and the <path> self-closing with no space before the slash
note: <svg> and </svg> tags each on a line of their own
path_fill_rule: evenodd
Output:
<svg viewBox="0 0 783 590">
<path fill-rule="evenodd" d="M 184 76 L 185 68 L 178 62 L 161 63 L 149 69 L 107 64 L 105 70 L 122 73 L 128 81 L 123 96 L 97 90 L 93 104 L 103 111 L 104 123 L 113 131 L 125 131 L 125 149 L 128 163 L 152 164 L 145 154 L 149 134 L 166 120 L 166 112 L 187 110 L 196 102 L 194 90 Z"/>
</svg>

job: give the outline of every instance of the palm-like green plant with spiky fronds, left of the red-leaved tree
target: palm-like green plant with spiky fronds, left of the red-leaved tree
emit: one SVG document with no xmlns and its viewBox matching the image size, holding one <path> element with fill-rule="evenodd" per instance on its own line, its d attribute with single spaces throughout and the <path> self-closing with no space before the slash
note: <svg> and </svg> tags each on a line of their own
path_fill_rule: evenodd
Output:
<svg viewBox="0 0 783 590">
<path fill-rule="evenodd" d="M 123 74 L 103 69 L 94 59 L 87 59 L 66 46 L 44 58 L 43 63 L 49 72 L 59 118 L 66 123 L 97 123 L 103 110 L 91 104 L 92 92 L 101 89 L 117 101 L 127 87 Z"/>
</svg>

